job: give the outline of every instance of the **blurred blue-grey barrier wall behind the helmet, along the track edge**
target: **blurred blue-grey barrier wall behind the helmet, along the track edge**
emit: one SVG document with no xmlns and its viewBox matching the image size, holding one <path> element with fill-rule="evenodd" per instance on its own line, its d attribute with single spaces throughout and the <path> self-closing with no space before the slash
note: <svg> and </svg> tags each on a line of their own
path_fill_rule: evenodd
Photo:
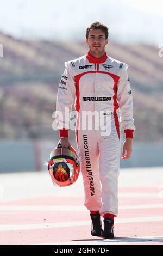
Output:
<svg viewBox="0 0 163 256">
<path fill-rule="evenodd" d="M 75 140 L 70 140 L 77 150 Z M 0 143 L 0 173 L 27 170 L 47 170 L 47 161 L 58 141 L 7 141 Z M 121 168 L 163 166 L 163 144 L 134 142 L 133 154 L 121 160 Z"/>
</svg>

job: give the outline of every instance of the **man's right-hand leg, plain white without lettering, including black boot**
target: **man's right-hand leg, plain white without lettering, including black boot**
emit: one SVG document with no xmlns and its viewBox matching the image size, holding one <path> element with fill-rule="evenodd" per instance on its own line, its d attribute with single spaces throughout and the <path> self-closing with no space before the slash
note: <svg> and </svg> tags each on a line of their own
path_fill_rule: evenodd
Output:
<svg viewBox="0 0 163 256">
<path fill-rule="evenodd" d="M 104 217 L 103 236 L 114 237 L 114 217 L 118 214 L 118 175 L 121 143 L 117 131 L 101 137 L 99 142 L 99 176 L 102 184 L 101 216 Z"/>
</svg>

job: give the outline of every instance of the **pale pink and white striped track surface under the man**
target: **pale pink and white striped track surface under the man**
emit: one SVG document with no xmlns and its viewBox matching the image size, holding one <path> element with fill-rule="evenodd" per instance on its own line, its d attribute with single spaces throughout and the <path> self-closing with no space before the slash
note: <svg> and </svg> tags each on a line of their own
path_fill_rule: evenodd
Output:
<svg viewBox="0 0 163 256">
<path fill-rule="evenodd" d="M 121 169 L 114 239 L 90 234 L 82 174 L 69 187 L 53 186 L 45 171 L 0 174 L 0 244 L 162 245 L 162 170 Z"/>
</svg>

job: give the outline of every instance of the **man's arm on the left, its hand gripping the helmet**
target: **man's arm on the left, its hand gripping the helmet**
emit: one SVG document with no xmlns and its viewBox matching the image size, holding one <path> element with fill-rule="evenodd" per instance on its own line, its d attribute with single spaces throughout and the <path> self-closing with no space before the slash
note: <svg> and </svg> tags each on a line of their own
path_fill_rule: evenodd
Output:
<svg viewBox="0 0 163 256">
<path fill-rule="evenodd" d="M 70 148 L 68 130 L 70 126 L 70 112 L 72 111 L 72 105 L 76 95 L 76 87 L 70 64 L 65 63 L 65 65 L 66 69 L 61 77 L 58 88 L 55 119 L 58 130 L 60 131 L 59 143 L 64 148 Z"/>
</svg>

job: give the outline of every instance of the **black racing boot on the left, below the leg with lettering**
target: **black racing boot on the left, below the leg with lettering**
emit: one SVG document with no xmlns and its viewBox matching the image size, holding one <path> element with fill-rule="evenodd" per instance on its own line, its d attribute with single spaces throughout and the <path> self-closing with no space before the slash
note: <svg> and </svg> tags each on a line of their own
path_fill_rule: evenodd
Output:
<svg viewBox="0 0 163 256">
<path fill-rule="evenodd" d="M 97 214 L 90 214 L 92 219 L 91 235 L 101 236 L 103 234 L 102 223 L 99 212 Z"/>
</svg>

